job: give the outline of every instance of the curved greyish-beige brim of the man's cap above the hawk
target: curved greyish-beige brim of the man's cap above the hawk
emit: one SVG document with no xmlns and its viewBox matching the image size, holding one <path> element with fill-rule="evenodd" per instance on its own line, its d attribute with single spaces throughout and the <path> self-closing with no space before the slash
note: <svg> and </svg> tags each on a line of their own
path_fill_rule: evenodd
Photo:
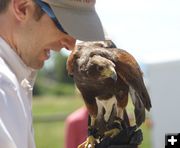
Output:
<svg viewBox="0 0 180 148">
<path fill-rule="evenodd" d="M 51 5 L 64 30 L 82 41 L 104 40 L 101 21 L 95 10 L 83 11 Z"/>
</svg>

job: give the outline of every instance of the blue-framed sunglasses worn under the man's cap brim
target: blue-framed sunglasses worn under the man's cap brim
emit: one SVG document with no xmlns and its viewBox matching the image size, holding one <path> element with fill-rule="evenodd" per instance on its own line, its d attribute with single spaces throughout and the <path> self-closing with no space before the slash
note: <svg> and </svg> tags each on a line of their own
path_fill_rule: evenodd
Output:
<svg viewBox="0 0 180 148">
<path fill-rule="evenodd" d="M 59 23 L 58 19 L 56 18 L 53 10 L 51 9 L 51 7 L 49 6 L 48 3 L 43 2 L 41 0 L 36 0 L 36 4 L 38 4 L 38 6 L 52 19 L 52 21 L 55 23 L 56 27 L 64 32 L 65 34 L 68 34 L 62 27 L 62 25 Z"/>
</svg>

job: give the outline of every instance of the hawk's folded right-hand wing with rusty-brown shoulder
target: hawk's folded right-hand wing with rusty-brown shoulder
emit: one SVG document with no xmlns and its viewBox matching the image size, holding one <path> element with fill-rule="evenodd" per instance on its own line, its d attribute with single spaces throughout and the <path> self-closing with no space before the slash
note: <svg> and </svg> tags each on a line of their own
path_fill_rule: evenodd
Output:
<svg viewBox="0 0 180 148">
<path fill-rule="evenodd" d="M 138 126 L 145 120 L 145 108 L 149 111 L 151 101 L 145 87 L 142 72 L 134 57 L 124 50 L 119 50 L 115 61 L 117 74 L 129 86 L 131 98 L 135 105 Z"/>
</svg>

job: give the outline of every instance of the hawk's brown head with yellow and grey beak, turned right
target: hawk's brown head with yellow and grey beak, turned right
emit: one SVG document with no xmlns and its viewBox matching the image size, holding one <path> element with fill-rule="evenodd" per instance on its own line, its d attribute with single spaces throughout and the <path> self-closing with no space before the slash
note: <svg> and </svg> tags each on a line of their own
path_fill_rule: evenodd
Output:
<svg viewBox="0 0 180 148">
<path fill-rule="evenodd" d="M 114 81 L 117 80 L 115 64 L 100 55 L 90 57 L 85 69 L 88 77 L 97 80 L 104 80 L 107 78 L 111 78 Z"/>
</svg>

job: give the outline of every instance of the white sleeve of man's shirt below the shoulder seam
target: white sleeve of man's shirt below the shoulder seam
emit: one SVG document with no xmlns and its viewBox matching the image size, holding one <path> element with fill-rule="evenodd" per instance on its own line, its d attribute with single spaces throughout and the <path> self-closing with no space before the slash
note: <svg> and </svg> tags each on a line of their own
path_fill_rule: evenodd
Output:
<svg viewBox="0 0 180 148">
<path fill-rule="evenodd" d="M 27 121 L 22 107 L 17 88 L 0 75 L 0 148 L 27 148 Z"/>
</svg>

